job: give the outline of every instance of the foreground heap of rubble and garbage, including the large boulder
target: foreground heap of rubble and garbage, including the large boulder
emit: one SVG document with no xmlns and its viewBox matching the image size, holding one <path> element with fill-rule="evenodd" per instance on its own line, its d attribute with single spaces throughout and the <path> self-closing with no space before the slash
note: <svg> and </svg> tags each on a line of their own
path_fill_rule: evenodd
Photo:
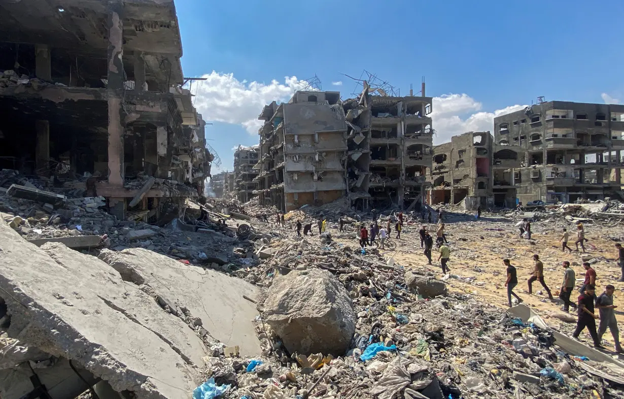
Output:
<svg viewBox="0 0 624 399">
<path fill-rule="evenodd" d="M 283 240 L 236 272 L 264 288 L 263 356 L 216 345 L 198 397 L 624 398 L 552 333 L 376 250 Z M 202 396 L 204 395 L 204 396 Z M 208 395 L 208 396 L 205 396 Z"/>
</svg>

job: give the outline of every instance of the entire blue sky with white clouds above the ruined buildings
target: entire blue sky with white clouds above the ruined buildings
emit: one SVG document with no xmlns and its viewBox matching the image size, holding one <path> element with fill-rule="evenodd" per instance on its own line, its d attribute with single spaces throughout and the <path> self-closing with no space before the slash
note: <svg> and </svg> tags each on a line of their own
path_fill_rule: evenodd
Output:
<svg viewBox="0 0 624 399">
<path fill-rule="evenodd" d="M 434 143 L 492 130 L 492 117 L 547 100 L 624 100 L 624 1 L 177 0 L 185 76 L 210 145 L 232 169 L 232 148 L 257 144 L 264 104 L 300 79 L 354 91 L 363 69 L 405 95 L 434 99 Z M 333 82 L 342 82 L 334 86 Z"/>
</svg>

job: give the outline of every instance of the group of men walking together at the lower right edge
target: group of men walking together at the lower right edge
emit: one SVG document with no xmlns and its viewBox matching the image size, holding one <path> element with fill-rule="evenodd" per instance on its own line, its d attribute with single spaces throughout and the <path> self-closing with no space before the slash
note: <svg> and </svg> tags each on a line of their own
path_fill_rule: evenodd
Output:
<svg viewBox="0 0 624 399">
<path fill-rule="evenodd" d="M 618 265 L 622 268 L 622 278 L 619 281 L 624 281 L 624 249 L 621 244 L 615 244 L 618 249 Z M 548 294 L 548 298 L 553 300 L 552 292 L 546 282 L 544 280 L 544 264 L 540 260 L 539 255 L 533 255 L 534 260 L 534 268 L 527 280 L 529 290 L 527 293 L 532 294 L 532 284 L 535 281 L 539 281 L 544 290 Z M 505 280 L 505 287 L 507 287 L 507 301 L 509 302 L 509 307 L 512 306 L 512 296 L 515 297 L 518 303 L 522 303 L 522 298 L 520 298 L 515 292 L 514 288 L 518 285 L 518 277 L 517 271 L 514 265 L 511 264 L 509 259 L 503 259 L 503 264 L 507 268 L 507 279 Z M 561 288 L 559 290 L 559 298 L 563 301 L 563 312 L 569 312 L 570 307 L 577 310 L 578 320 L 577 320 L 577 328 L 573 333 L 573 337 L 578 338 L 581 332 L 585 328 L 589 331 L 593 344 L 597 348 L 602 348 L 602 336 L 607 331 L 607 328 L 611 331 L 613 336 L 613 341 L 615 342 L 615 350 L 616 352 L 622 352 L 622 347 L 620 345 L 620 333 L 618 331 L 617 320 L 615 319 L 615 308 L 617 305 L 613 305 L 613 292 L 615 287 L 611 284 L 608 284 L 605 287 L 605 292 L 603 292 L 600 296 L 596 296 L 596 280 L 597 273 L 596 270 L 593 269 L 592 265 L 588 262 L 583 262 L 583 269 L 585 269 L 585 279 L 583 280 L 583 285 L 580 287 L 579 293 L 580 295 L 577 298 L 577 303 L 574 303 L 570 300 L 572 296 L 572 292 L 576 285 L 576 273 L 574 269 L 570 266 L 570 262 L 565 261 L 562 264 L 563 266 L 563 280 L 561 284 Z M 598 312 L 600 317 L 595 312 L 595 308 L 598 308 Z M 596 328 L 596 321 L 600 318 L 600 323 L 598 328 Z"/>
</svg>

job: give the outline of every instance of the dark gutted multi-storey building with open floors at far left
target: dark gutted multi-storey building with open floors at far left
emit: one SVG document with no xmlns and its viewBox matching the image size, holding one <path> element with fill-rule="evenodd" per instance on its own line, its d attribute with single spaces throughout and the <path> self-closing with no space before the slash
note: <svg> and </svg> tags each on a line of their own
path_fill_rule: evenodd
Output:
<svg viewBox="0 0 624 399">
<path fill-rule="evenodd" d="M 213 156 L 173 0 L 3 1 L 0 37 L 0 168 L 92 177 L 118 219 L 203 192 Z"/>
</svg>

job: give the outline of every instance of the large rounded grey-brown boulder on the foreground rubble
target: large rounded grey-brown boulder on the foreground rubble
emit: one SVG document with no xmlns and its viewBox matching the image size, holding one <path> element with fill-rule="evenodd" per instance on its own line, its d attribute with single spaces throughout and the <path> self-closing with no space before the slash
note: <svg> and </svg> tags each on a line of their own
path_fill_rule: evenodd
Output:
<svg viewBox="0 0 624 399">
<path fill-rule="evenodd" d="M 349 293 L 331 273 L 316 268 L 276 278 L 263 317 L 291 353 L 344 355 L 355 332 Z"/>
</svg>

